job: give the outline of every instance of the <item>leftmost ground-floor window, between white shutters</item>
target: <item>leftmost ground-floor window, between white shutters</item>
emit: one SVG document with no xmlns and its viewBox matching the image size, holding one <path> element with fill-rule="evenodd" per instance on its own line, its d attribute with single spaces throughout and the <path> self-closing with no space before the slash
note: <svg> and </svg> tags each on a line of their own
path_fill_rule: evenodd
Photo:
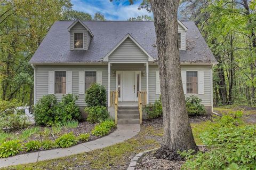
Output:
<svg viewBox="0 0 256 170">
<path fill-rule="evenodd" d="M 55 94 L 66 94 L 66 71 L 55 71 Z"/>
</svg>

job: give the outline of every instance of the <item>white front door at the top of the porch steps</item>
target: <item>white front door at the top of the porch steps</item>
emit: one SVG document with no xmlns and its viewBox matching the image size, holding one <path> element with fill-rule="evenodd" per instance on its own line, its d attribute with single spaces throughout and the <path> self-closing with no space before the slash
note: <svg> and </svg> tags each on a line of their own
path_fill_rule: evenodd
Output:
<svg viewBox="0 0 256 170">
<path fill-rule="evenodd" d="M 135 72 L 123 72 L 123 101 L 135 101 Z"/>
</svg>

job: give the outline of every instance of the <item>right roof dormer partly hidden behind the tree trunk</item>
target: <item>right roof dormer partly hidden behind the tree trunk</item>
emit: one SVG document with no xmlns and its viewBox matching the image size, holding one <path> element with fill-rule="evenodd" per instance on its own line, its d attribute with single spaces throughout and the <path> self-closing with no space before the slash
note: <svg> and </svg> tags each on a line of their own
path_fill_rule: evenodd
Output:
<svg viewBox="0 0 256 170">
<path fill-rule="evenodd" d="M 188 28 L 178 21 L 178 46 L 179 50 L 186 50 L 186 32 Z"/>
</svg>

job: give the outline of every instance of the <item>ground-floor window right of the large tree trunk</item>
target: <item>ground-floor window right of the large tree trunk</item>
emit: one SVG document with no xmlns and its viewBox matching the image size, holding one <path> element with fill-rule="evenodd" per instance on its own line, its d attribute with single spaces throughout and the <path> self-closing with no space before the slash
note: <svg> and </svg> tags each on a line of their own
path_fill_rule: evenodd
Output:
<svg viewBox="0 0 256 170">
<path fill-rule="evenodd" d="M 197 71 L 187 71 L 187 94 L 197 94 Z"/>
</svg>

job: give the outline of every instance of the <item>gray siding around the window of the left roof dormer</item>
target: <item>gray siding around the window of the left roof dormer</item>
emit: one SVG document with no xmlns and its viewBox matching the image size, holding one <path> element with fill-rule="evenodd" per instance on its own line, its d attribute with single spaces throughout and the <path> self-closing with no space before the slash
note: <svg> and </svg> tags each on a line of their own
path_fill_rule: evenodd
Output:
<svg viewBox="0 0 256 170">
<path fill-rule="evenodd" d="M 77 22 L 76 25 L 70 29 L 70 49 L 79 50 L 74 48 L 74 33 L 84 33 L 84 50 L 88 50 L 91 41 L 91 36 L 80 22 Z"/>
</svg>

